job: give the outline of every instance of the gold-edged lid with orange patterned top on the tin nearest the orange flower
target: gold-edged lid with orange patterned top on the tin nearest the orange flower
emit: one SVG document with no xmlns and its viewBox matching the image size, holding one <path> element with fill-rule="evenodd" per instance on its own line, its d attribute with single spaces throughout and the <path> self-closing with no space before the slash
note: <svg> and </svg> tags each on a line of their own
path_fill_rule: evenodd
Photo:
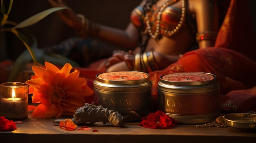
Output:
<svg viewBox="0 0 256 143">
<path fill-rule="evenodd" d="M 152 87 L 149 75 L 137 71 L 99 73 L 93 83 L 94 88 L 107 91 L 138 91 Z"/>
</svg>

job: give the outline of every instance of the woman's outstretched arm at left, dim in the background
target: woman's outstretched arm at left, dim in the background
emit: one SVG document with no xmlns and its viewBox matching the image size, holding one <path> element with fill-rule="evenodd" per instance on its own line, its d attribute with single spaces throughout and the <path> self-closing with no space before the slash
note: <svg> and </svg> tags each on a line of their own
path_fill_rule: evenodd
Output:
<svg viewBox="0 0 256 143">
<path fill-rule="evenodd" d="M 67 7 L 62 0 L 48 0 L 52 7 Z M 143 4 L 144 2 L 141 2 Z M 130 23 L 126 30 L 120 30 L 109 26 L 100 25 L 97 23 L 90 22 L 85 18 L 78 18 L 76 13 L 72 10 L 58 11 L 58 15 L 61 19 L 73 29 L 82 32 L 83 35 L 93 33 L 92 36 L 99 37 L 103 40 L 111 42 L 128 49 L 135 49 L 139 44 L 139 35 L 137 28 Z M 83 16 L 82 16 L 83 17 Z M 97 27 L 97 28 L 94 28 Z M 84 29 L 88 29 L 85 31 Z M 96 32 L 95 32 L 96 31 Z M 96 33 L 96 34 L 95 34 Z"/>
</svg>

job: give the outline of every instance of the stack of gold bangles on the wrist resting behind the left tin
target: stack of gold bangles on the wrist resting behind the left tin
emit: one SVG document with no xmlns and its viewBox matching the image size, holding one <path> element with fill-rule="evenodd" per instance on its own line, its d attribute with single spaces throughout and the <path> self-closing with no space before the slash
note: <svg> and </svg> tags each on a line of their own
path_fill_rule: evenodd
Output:
<svg viewBox="0 0 256 143">
<path fill-rule="evenodd" d="M 129 66 L 128 66 L 128 68 L 129 68 Z M 159 70 L 159 66 L 157 65 L 153 51 L 143 53 L 143 54 L 141 54 L 140 52 L 136 53 L 135 67 L 133 68 L 133 70 L 141 71 L 144 73 L 149 73 L 149 72 L 152 72 L 155 70 Z"/>
</svg>

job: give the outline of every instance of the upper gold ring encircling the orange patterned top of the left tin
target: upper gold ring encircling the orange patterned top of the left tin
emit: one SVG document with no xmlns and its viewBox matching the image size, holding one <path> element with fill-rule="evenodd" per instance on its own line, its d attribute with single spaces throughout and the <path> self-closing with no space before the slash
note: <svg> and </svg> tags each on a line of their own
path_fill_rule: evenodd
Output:
<svg viewBox="0 0 256 143">
<path fill-rule="evenodd" d="M 103 73 L 113 73 L 113 72 L 103 72 L 103 73 L 98 73 L 96 75 L 96 79 L 97 81 L 104 83 L 104 84 L 141 84 L 144 82 L 147 82 L 149 80 L 149 75 L 147 73 L 143 73 L 143 72 L 138 72 L 138 71 L 121 71 L 121 72 L 133 72 L 133 73 L 141 73 L 144 75 L 147 75 L 146 78 L 144 79 L 137 79 L 137 80 L 126 80 L 126 81 L 122 81 L 122 80 L 109 80 L 109 79 L 102 79 L 99 77 L 99 75 L 103 74 Z"/>
</svg>

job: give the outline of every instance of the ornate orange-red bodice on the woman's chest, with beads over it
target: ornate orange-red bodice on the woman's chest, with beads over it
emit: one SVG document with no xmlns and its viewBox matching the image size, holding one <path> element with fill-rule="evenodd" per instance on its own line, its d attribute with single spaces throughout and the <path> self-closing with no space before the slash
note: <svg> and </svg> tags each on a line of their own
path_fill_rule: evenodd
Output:
<svg viewBox="0 0 256 143">
<path fill-rule="evenodd" d="M 171 37 L 179 31 L 185 19 L 186 0 L 181 0 L 181 10 L 172 6 L 178 1 L 166 0 L 159 7 L 156 4 L 150 7 L 136 7 L 131 13 L 130 20 L 135 27 L 152 38 L 160 39 L 163 35 Z"/>
</svg>

